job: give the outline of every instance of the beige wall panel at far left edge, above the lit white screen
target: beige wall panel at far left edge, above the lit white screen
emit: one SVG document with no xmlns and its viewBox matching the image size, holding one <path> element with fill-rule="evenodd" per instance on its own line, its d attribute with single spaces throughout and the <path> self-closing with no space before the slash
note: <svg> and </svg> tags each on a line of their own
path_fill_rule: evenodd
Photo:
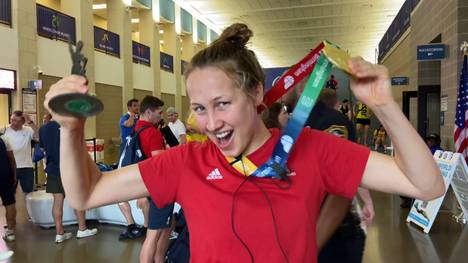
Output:
<svg viewBox="0 0 468 263">
<path fill-rule="evenodd" d="M 0 25 L 0 68 L 18 70 L 18 32 Z"/>
</svg>

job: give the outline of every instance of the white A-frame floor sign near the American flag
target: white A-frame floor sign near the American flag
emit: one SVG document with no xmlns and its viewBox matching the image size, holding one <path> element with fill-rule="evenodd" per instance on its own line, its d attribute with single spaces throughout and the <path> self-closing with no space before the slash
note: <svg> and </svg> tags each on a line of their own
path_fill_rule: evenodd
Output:
<svg viewBox="0 0 468 263">
<path fill-rule="evenodd" d="M 429 233 L 431 230 L 450 186 L 455 193 L 458 204 L 464 212 L 465 219 L 468 220 L 468 167 L 465 160 L 459 153 L 443 151 L 436 151 L 434 159 L 444 178 L 445 194 L 431 201 L 416 199 L 406 218 L 407 222 L 412 222 L 422 227 L 425 233 Z"/>
</svg>

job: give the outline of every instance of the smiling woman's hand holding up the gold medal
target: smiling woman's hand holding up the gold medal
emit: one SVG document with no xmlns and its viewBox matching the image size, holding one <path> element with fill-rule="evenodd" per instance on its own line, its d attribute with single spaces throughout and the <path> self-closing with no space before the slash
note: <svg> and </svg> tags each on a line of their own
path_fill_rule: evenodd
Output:
<svg viewBox="0 0 468 263">
<path fill-rule="evenodd" d="M 376 110 L 393 102 L 389 73 L 386 67 L 365 61 L 361 57 L 348 61 L 351 90 L 356 99 Z"/>
</svg>

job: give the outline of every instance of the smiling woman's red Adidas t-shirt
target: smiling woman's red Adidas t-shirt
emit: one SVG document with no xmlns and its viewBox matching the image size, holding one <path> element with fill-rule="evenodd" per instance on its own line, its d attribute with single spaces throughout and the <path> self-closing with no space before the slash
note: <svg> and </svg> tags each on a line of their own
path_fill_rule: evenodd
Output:
<svg viewBox="0 0 468 263">
<path fill-rule="evenodd" d="M 277 129 L 248 158 L 260 166 L 279 138 Z M 305 128 L 288 161 L 291 186 L 252 177 L 238 191 L 234 225 L 255 262 L 284 262 L 267 200 L 274 211 L 279 240 L 289 262 L 315 262 L 316 220 L 325 193 L 353 198 L 369 149 L 328 133 Z M 245 177 L 229 165 L 211 141 L 185 144 L 139 163 L 151 197 L 163 207 L 177 201 L 190 232 L 191 262 L 250 262 L 231 228 L 233 193 Z"/>
</svg>

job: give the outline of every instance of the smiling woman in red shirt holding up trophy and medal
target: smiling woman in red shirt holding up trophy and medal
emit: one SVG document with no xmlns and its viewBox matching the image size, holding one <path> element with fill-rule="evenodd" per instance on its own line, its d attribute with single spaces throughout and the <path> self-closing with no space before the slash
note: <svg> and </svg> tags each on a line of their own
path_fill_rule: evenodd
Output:
<svg viewBox="0 0 468 263">
<path fill-rule="evenodd" d="M 326 193 L 352 198 L 361 185 L 429 200 L 444 192 L 432 156 L 391 96 L 387 70 L 359 58 L 348 61 L 355 76 L 351 89 L 380 119 L 399 159 L 305 128 L 288 159 L 288 179 L 248 176 L 284 141 L 257 111 L 264 77 L 245 46 L 250 37 L 246 25 L 231 25 L 188 67 L 191 107 L 210 139 L 204 143 L 101 173 L 86 152 L 85 119 L 53 113 L 62 126 L 62 178 L 70 205 L 83 209 L 150 194 L 158 206 L 177 201 L 184 208 L 192 262 L 315 262 L 316 220 Z M 87 90 L 84 78 L 64 78 L 45 105 L 59 94 Z"/>
</svg>

